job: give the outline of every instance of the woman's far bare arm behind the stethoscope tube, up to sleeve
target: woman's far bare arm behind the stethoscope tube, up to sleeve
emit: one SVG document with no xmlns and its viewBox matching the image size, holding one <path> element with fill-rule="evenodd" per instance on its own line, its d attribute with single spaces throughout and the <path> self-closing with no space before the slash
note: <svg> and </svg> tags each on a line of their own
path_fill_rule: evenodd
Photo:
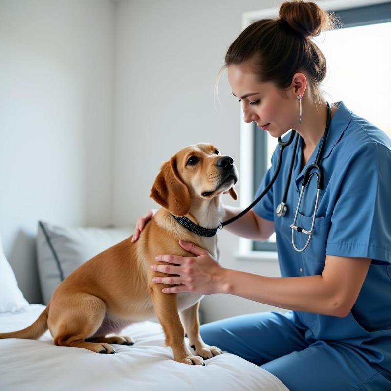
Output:
<svg viewBox="0 0 391 391">
<path fill-rule="evenodd" d="M 224 221 L 235 217 L 244 210 L 228 205 L 223 205 L 223 208 L 225 210 Z M 259 217 L 253 209 L 250 209 L 238 220 L 225 225 L 224 229 L 242 238 L 263 241 L 268 239 L 274 232 L 274 222 Z"/>
</svg>

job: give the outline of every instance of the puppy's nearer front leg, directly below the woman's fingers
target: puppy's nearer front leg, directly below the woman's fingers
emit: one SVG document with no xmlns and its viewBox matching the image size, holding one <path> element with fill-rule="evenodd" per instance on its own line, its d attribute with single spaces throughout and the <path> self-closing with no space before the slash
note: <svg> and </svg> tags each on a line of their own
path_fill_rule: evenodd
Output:
<svg viewBox="0 0 391 391">
<path fill-rule="evenodd" d="M 162 293 L 163 285 L 150 287 L 150 294 L 157 318 L 166 335 L 166 345 L 173 350 L 174 360 L 190 365 L 205 365 L 201 357 L 193 355 L 186 346 L 185 331 L 178 314 L 176 293 Z"/>
</svg>

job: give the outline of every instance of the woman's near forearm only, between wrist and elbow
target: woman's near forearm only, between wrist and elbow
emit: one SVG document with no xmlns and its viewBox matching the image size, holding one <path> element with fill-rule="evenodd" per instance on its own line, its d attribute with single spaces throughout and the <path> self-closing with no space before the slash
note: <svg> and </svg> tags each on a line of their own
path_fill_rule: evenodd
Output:
<svg viewBox="0 0 391 391">
<path fill-rule="evenodd" d="M 335 292 L 320 275 L 266 277 L 223 269 L 217 286 L 217 293 L 229 293 L 279 308 L 346 316 Z"/>
</svg>

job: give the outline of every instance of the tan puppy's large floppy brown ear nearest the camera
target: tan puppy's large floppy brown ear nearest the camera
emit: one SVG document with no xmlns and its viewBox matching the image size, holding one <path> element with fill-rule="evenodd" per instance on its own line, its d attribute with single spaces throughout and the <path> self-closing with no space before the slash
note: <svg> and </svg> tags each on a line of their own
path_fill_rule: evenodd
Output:
<svg viewBox="0 0 391 391">
<path fill-rule="evenodd" d="M 190 193 L 178 174 L 175 156 L 163 163 L 150 197 L 175 216 L 185 216 L 189 212 Z"/>
</svg>

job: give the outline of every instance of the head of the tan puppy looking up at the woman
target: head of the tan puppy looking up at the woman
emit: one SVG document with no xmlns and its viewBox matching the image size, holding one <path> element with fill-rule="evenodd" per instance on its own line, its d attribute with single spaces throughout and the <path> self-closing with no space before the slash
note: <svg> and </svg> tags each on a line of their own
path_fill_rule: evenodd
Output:
<svg viewBox="0 0 391 391">
<path fill-rule="evenodd" d="M 222 156 L 211 144 L 181 149 L 164 162 L 151 188 L 150 197 L 175 216 L 186 215 L 192 199 L 210 200 L 222 193 L 233 199 L 238 170 L 230 156 Z"/>
</svg>

